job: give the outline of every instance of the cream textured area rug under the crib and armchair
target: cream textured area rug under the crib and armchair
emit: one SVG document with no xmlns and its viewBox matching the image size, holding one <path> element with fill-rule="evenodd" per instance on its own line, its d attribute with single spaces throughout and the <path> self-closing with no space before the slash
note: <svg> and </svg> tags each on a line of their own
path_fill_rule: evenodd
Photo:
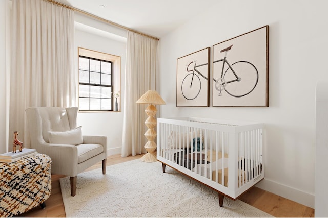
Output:
<svg viewBox="0 0 328 218">
<path fill-rule="evenodd" d="M 67 217 L 272 217 L 218 193 L 160 162 L 140 159 L 78 174 L 76 196 L 69 177 L 60 179 Z"/>
</svg>

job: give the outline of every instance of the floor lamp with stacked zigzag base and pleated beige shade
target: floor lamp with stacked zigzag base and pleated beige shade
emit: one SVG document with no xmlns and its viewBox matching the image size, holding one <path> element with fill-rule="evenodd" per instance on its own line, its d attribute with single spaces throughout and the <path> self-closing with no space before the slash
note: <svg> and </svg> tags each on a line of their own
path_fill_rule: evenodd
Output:
<svg viewBox="0 0 328 218">
<path fill-rule="evenodd" d="M 136 103 L 140 104 L 149 104 L 146 108 L 145 112 L 148 115 L 148 118 L 145 121 L 145 125 L 148 127 L 148 130 L 145 133 L 146 138 L 148 139 L 147 143 L 145 144 L 145 149 L 147 154 L 145 154 L 141 160 L 144 162 L 155 162 L 157 160 L 156 156 L 152 154 L 157 146 L 154 142 L 156 138 L 156 107 L 154 105 L 165 105 L 165 101 L 161 98 L 161 96 L 155 90 L 148 90 L 145 94 L 143 94 Z"/>
</svg>

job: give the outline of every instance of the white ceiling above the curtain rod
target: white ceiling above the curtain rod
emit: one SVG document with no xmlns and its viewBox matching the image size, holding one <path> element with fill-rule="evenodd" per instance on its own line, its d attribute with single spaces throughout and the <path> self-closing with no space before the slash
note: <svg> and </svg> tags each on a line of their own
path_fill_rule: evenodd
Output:
<svg viewBox="0 0 328 218">
<path fill-rule="evenodd" d="M 160 38 L 216 5 L 218 0 L 56 0 Z"/>
</svg>

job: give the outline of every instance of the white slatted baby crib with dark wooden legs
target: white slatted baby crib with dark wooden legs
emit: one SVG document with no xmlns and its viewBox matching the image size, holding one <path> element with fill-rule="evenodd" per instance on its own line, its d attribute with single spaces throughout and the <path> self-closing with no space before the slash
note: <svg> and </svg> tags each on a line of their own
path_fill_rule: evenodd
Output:
<svg viewBox="0 0 328 218">
<path fill-rule="evenodd" d="M 237 199 L 264 178 L 262 123 L 157 118 L 157 160 Z M 228 179 L 229 178 L 229 179 Z M 222 182 L 223 181 L 223 182 Z"/>
</svg>

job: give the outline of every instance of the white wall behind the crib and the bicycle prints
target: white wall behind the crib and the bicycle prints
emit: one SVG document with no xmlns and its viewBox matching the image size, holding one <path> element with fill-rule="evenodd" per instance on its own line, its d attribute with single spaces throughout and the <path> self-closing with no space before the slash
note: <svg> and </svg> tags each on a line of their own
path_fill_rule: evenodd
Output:
<svg viewBox="0 0 328 218">
<path fill-rule="evenodd" d="M 312 208 L 315 85 L 328 78 L 327 8 L 325 0 L 219 1 L 160 39 L 160 94 L 167 103 L 160 117 L 265 123 L 265 180 L 258 186 Z M 210 46 L 212 61 L 212 45 L 265 25 L 270 31 L 269 107 L 176 107 L 177 58 Z"/>
</svg>

